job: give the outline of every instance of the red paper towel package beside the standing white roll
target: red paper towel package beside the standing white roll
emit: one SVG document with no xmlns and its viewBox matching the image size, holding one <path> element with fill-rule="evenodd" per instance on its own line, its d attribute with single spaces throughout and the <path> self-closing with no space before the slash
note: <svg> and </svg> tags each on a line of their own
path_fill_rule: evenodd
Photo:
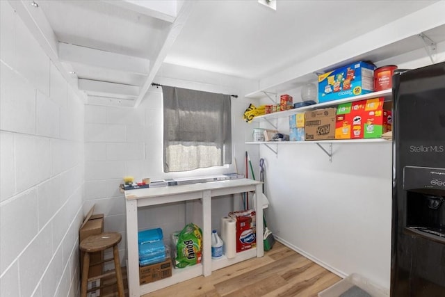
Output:
<svg viewBox="0 0 445 297">
<path fill-rule="evenodd" d="M 257 246 L 257 228 L 255 211 L 233 211 L 229 217 L 236 220 L 236 252 L 243 252 Z"/>
</svg>

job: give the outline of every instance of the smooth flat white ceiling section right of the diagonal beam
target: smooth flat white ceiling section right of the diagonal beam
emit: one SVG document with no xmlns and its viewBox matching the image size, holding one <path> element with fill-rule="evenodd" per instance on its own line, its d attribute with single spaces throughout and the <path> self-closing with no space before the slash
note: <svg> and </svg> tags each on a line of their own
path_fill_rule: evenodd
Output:
<svg viewBox="0 0 445 297">
<path fill-rule="evenodd" d="M 261 79 L 432 2 L 198 1 L 165 62 Z"/>
</svg>

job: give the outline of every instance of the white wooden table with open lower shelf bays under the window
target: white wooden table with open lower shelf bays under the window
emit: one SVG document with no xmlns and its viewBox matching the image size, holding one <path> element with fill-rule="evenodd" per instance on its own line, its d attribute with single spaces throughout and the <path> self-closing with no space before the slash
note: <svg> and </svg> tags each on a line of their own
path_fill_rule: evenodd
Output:
<svg viewBox="0 0 445 297">
<path fill-rule="evenodd" d="M 227 259 L 211 259 L 211 198 L 244 192 L 261 193 L 262 182 L 252 179 L 229 179 L 202 184 L 186 184 L 180 186 L 165 186 L 159 188 L 140 188 L 125 191 L 127 208 L 127 273 L 129 296 L 141 296 L 178 282 L 184 282 L 200 275 L 211 275 L 211 271 L 229 266 L 252 257 L 263 257 L 263 208 L 256 199 L 257 248 L 236 253 L 236 257 Z M 172 277 L 149 284 L 139 285 L 138 258 L 138 207 L 166 204 L 172 202 L 201 200 L 202 202 L 202 263 L 187 268 L 173 269 Z"/>
</svg>

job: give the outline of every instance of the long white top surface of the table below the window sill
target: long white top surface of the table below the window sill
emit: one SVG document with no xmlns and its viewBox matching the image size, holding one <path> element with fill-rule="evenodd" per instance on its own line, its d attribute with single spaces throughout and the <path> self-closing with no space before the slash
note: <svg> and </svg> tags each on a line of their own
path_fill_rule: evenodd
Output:
<svg viewBox="0 0 445 297">
<path fill-rule="evenodd" d="M 167 195 L 176 195 L 181 193 L 191 193 L 199 191 L 216 190 L 220 188 L 233 188 L 236 186 L 256 186 L 262 184 L 253 179 L 227 179 L 216 182 L 203 182 L 197 184 L 183 184 L 178 186 L 160 186 L 156 188 L 138 188 L 134 190 L 125 191 L 125 198 L 127 200 L 152 198 Z"/>
</svg>

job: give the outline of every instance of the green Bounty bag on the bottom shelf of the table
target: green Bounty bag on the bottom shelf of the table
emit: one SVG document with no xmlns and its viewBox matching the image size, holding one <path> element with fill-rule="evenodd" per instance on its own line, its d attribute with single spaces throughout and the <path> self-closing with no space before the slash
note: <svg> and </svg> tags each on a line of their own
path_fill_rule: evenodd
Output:
<svg viewBox="0 0 445 297">
<path fill-rule="evenodd" d="M 201 263 L 202 231 L 197 225 L 187 224 L 178 236 L 176 266 L 184 268 Z"/>
</svg>

